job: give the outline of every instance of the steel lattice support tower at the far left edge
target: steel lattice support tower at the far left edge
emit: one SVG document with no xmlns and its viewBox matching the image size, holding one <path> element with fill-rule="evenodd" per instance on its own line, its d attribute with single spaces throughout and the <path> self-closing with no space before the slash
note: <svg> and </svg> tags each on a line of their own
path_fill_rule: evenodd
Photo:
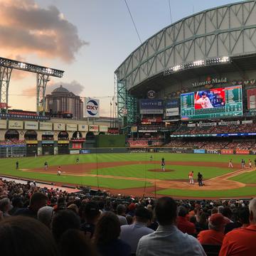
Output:
<svg viewBox="0 0 256 256">
<path fill-rule="evenodd" d="M 11 78 L 11 71 L 9 67 L 0 66 L 0 110 L 5 109 L 8 112 L 8 98 L 9 98 L 9 82 Z"/>
</svg>

